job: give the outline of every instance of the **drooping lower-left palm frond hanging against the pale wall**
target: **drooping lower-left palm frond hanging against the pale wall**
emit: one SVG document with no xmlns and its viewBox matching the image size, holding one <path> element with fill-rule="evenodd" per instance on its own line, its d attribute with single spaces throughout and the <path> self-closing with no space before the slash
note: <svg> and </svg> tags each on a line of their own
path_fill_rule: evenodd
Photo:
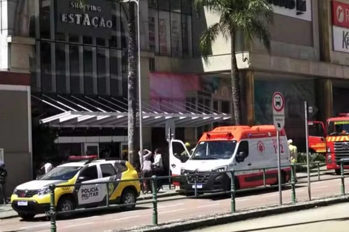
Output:
<svg viewBox="0 0 349 232">
<path fill-rule="evenodd" d="M 199 46 L 205 63 L 208 62 L 208 55 L 210 55 L 211 45 L 215 42 L 220 32 L 221 24 L 215 23 L 209 26 L 208 29 L 205 32 L 203 32 L 200 36 Z"/>
</svg>

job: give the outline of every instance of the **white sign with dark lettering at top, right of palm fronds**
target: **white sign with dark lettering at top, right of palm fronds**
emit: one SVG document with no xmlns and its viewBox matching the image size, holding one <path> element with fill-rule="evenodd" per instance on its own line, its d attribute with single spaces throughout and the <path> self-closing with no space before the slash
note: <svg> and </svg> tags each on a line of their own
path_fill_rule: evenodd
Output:
<svg viewBox="0 0 349 232">
<path fill-rule="evenodd" d="M 268 0 L 274 13 L 312 21 L 311 0 Z"/>
</svg>

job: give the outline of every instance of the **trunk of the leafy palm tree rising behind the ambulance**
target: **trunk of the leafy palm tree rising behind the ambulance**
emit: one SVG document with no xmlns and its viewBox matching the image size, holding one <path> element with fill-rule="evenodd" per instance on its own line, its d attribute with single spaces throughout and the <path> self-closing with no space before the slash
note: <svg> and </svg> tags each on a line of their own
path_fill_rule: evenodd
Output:
<svg viewBox="0 0 349 232">
<path fill-rule="evenodd" d="M 233 109 L 235 123 L 237 126 L 241 125 L 241 96 L 240 96 L 240 80 L 238 65 L 235 57 L 235 31 L 232 31 L 230 36 L 231 39 L 231 92 L 233 95 Z"/>
</svg>

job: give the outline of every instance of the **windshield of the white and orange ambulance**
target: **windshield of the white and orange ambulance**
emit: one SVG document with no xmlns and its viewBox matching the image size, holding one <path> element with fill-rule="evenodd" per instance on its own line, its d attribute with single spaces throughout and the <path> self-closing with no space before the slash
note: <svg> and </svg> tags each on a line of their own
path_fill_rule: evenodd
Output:
<svg viewBox="0 0 349 232">
<path fill-rule="evenodd" d="M 203 141 L 196 146 L 192 160 L 230 159 L 235 151 L 236 141 Z"/>
</svg>

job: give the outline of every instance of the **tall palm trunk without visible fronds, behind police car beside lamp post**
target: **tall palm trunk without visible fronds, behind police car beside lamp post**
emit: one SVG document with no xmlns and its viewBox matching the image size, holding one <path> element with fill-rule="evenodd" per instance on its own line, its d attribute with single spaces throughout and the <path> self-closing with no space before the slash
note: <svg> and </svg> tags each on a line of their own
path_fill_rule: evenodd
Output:
<svg viewBox="0 0 349 232">
<path fill-rule="evenodd" d="M 137 83 L 137 43 L 136 43 L 136 21 L 135 21 L 135 3 L 130 2 L 128 6 L 128 161 L 133 167 L 136 167 L 136 83 Z"/>
</svg>

